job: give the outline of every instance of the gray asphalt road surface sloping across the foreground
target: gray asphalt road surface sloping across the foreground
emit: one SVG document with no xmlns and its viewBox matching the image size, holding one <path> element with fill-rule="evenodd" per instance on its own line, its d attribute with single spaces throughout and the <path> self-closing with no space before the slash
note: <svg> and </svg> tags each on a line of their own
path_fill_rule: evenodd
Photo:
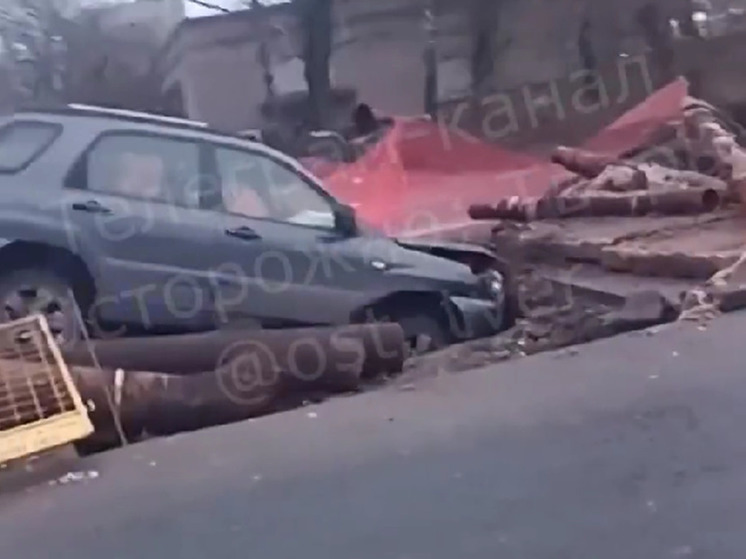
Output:
<svg viewBox="0 0 746 559">
<path fill-rule="evenodd" d="M 0 495 L 0 557 L 742 559 L 744 330 L 637 333 L 101 455 L 95 479 Z"/>
</svg>

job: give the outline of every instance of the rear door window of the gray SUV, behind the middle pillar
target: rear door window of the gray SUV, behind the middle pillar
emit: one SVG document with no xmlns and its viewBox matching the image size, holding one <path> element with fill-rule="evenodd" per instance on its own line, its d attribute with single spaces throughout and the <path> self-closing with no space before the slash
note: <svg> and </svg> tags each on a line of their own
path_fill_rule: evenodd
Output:
<svg viewBox="0 0 746 559">
<path fill-rule="evenodd" d="M 86 158 L 87 190 L 199 206 L 199 145 L 136 133 L 103 136 Z"/>
</svg>

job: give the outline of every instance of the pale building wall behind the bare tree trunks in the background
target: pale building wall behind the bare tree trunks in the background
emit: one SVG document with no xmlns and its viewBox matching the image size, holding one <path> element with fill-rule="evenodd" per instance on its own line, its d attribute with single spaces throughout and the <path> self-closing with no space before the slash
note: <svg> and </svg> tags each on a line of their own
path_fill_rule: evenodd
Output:
<svg viewBox="0 0 746 559">
<path fill-rule="evenodd" d="M 424 18 L 429 7 L 435 13 L 438 101 L 468 97 L 478 1 L 335 0 L 335 88 L 385 113 L 422 114 L 424 58 L 433 38 Z M 548 82 L 582 69 L 581 34 L 599 65 L 642 53 L 650 45 L 641 18 L 652 10 L 658 24 L 667 26 L 681 12 L 682 1 L 493 1 L 499 13 L 491 20 L 485 90 Z M 184 20 L 161 54 L 163 90 L 180 99 L 192 118 L 224 129 L 261 127 L 269 82 L 281 95 L 305 91 L 300 53 L 292 4 Z"/>
</svg>

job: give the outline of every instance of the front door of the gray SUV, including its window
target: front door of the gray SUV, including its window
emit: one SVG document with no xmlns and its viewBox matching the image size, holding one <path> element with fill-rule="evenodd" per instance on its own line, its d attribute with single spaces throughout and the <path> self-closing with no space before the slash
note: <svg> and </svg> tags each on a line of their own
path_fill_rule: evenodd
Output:
<svg viewBox="0 0 746 559">
<path fill-rule="evenodd" d="M 346 322 L 363 298 L 363 260 L 343 252 L 334 200 L 263 150 L 217 147 L 215 162 L 224 316 L 268 326 Z"/>
</svg>

